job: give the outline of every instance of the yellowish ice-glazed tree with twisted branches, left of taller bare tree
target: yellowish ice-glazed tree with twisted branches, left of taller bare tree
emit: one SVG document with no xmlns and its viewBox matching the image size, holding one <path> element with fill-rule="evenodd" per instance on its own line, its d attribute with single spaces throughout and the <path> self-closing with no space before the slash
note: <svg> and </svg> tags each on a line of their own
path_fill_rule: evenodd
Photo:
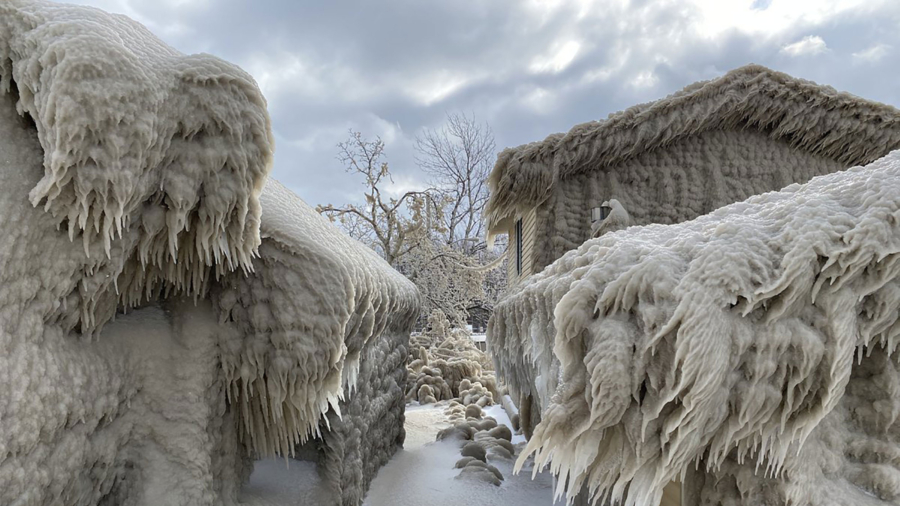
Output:
<svg viewBox="0 0 900 506">
<path fill-rule="evenodd" d="M 429 190 L 409 191 L 397 198 L 383 195 L 384 184 L 393 179 L 380 138 L 369 141 L 360 132 L 350 131 L 349 139 L 339 143 L 338 150 L 338 159 L 347 166 L 347 172 L 365 177 L 366 203 L 320 205 L 316 207 L 319 213 L 340 221 L 351 236 L 367 238 L 391 265 L 427 239 L 431 231 L 440 229 L 441 205 Z"/>
</svg>

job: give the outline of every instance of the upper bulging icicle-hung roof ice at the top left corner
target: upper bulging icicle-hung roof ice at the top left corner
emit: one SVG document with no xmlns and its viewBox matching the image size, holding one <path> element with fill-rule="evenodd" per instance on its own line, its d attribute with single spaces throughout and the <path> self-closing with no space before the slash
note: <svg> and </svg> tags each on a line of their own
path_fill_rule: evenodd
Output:
<svg viewBox="0 0 900 506">
<path fill-rule="evenodd" d="M 120 264 L 82 294 L 84 330 L 108 318 L 96 299 L 109 282 L 135 304 L 160 281 L 201 293 L 206 267 L 249 266 L 274 145 L 247 73 L 124 16 L 12 0 L 0 5 L 0 90 L 37 128 L 32 204 L 92 260 Z"/>
</svg>

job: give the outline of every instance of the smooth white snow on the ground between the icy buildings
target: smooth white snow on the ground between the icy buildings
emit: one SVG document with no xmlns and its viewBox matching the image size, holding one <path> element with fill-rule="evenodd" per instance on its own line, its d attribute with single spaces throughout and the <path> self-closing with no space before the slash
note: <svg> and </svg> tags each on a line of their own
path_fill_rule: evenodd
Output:
<svg viewBox="0 0 900 506">
<path fill-rule="evenodd" d="M 406 444 L 384 466 L 372 482 L 363 506 L 551 506 L 552 478 L 541 473 L 534 480 L 531 472 L 512 474 L 512 461 L 490 460 L 503 473 L 499 486 L 456 479 L 460 459 L 454 441 L 435 442 L 437 433 L 450 426 L 444 406 L 409 405 L 406 409 Z M 499 405 L 485 409 L 486 416 L 512 430 L 509 418 Z M 512 443 L 525 438 L 514 435 Z M 267 459 L 256 463 L 250 482 L 244 486 L 241 501 L 252 506 L 321 504 L 323 490 L 310 462 Z"/>
</svg>

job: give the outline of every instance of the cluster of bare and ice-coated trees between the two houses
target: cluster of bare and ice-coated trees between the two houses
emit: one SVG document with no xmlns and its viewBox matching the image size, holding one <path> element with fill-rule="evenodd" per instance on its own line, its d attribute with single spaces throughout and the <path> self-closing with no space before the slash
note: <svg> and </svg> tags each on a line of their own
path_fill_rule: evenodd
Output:
<svg viewBox="0 0 900 506">
<path fill-rule="evenodd" d="M 384 194 L 392 181 L 384 148 L 381 139 L 351 131 L 338 144 L 338 159 L 364 177 L 365 204 L 317 210 L 416 284 L 423 317 L 439 310 L 464 326 L 473 311 L 490 313 L 506 273 L 485 269 L 503 251 L 488 251 L 483 241 L 481 214 L 494 158 L 490 128 L 474 116 L 450 114 L 444 127 L 424 131 L 416 138 L 416 159 L 432 187 L 398 198 Z"/>
</svg>

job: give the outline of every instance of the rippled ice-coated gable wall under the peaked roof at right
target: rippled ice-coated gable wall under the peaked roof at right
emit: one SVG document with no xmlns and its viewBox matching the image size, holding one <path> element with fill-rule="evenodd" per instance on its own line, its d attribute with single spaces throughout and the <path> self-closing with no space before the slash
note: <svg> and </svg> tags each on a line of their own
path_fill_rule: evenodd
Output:
<svg viewBox="0 0 900 506">
<path fill-rule="evenodd" d="M 636 225 L 678 223 L 845 168 L 757 130 L 703 132 L 608 170 L 558 181 L 536 210 L 532 272 L 587 240 L 590 209 L 610 198 Z"/>
</svg>

